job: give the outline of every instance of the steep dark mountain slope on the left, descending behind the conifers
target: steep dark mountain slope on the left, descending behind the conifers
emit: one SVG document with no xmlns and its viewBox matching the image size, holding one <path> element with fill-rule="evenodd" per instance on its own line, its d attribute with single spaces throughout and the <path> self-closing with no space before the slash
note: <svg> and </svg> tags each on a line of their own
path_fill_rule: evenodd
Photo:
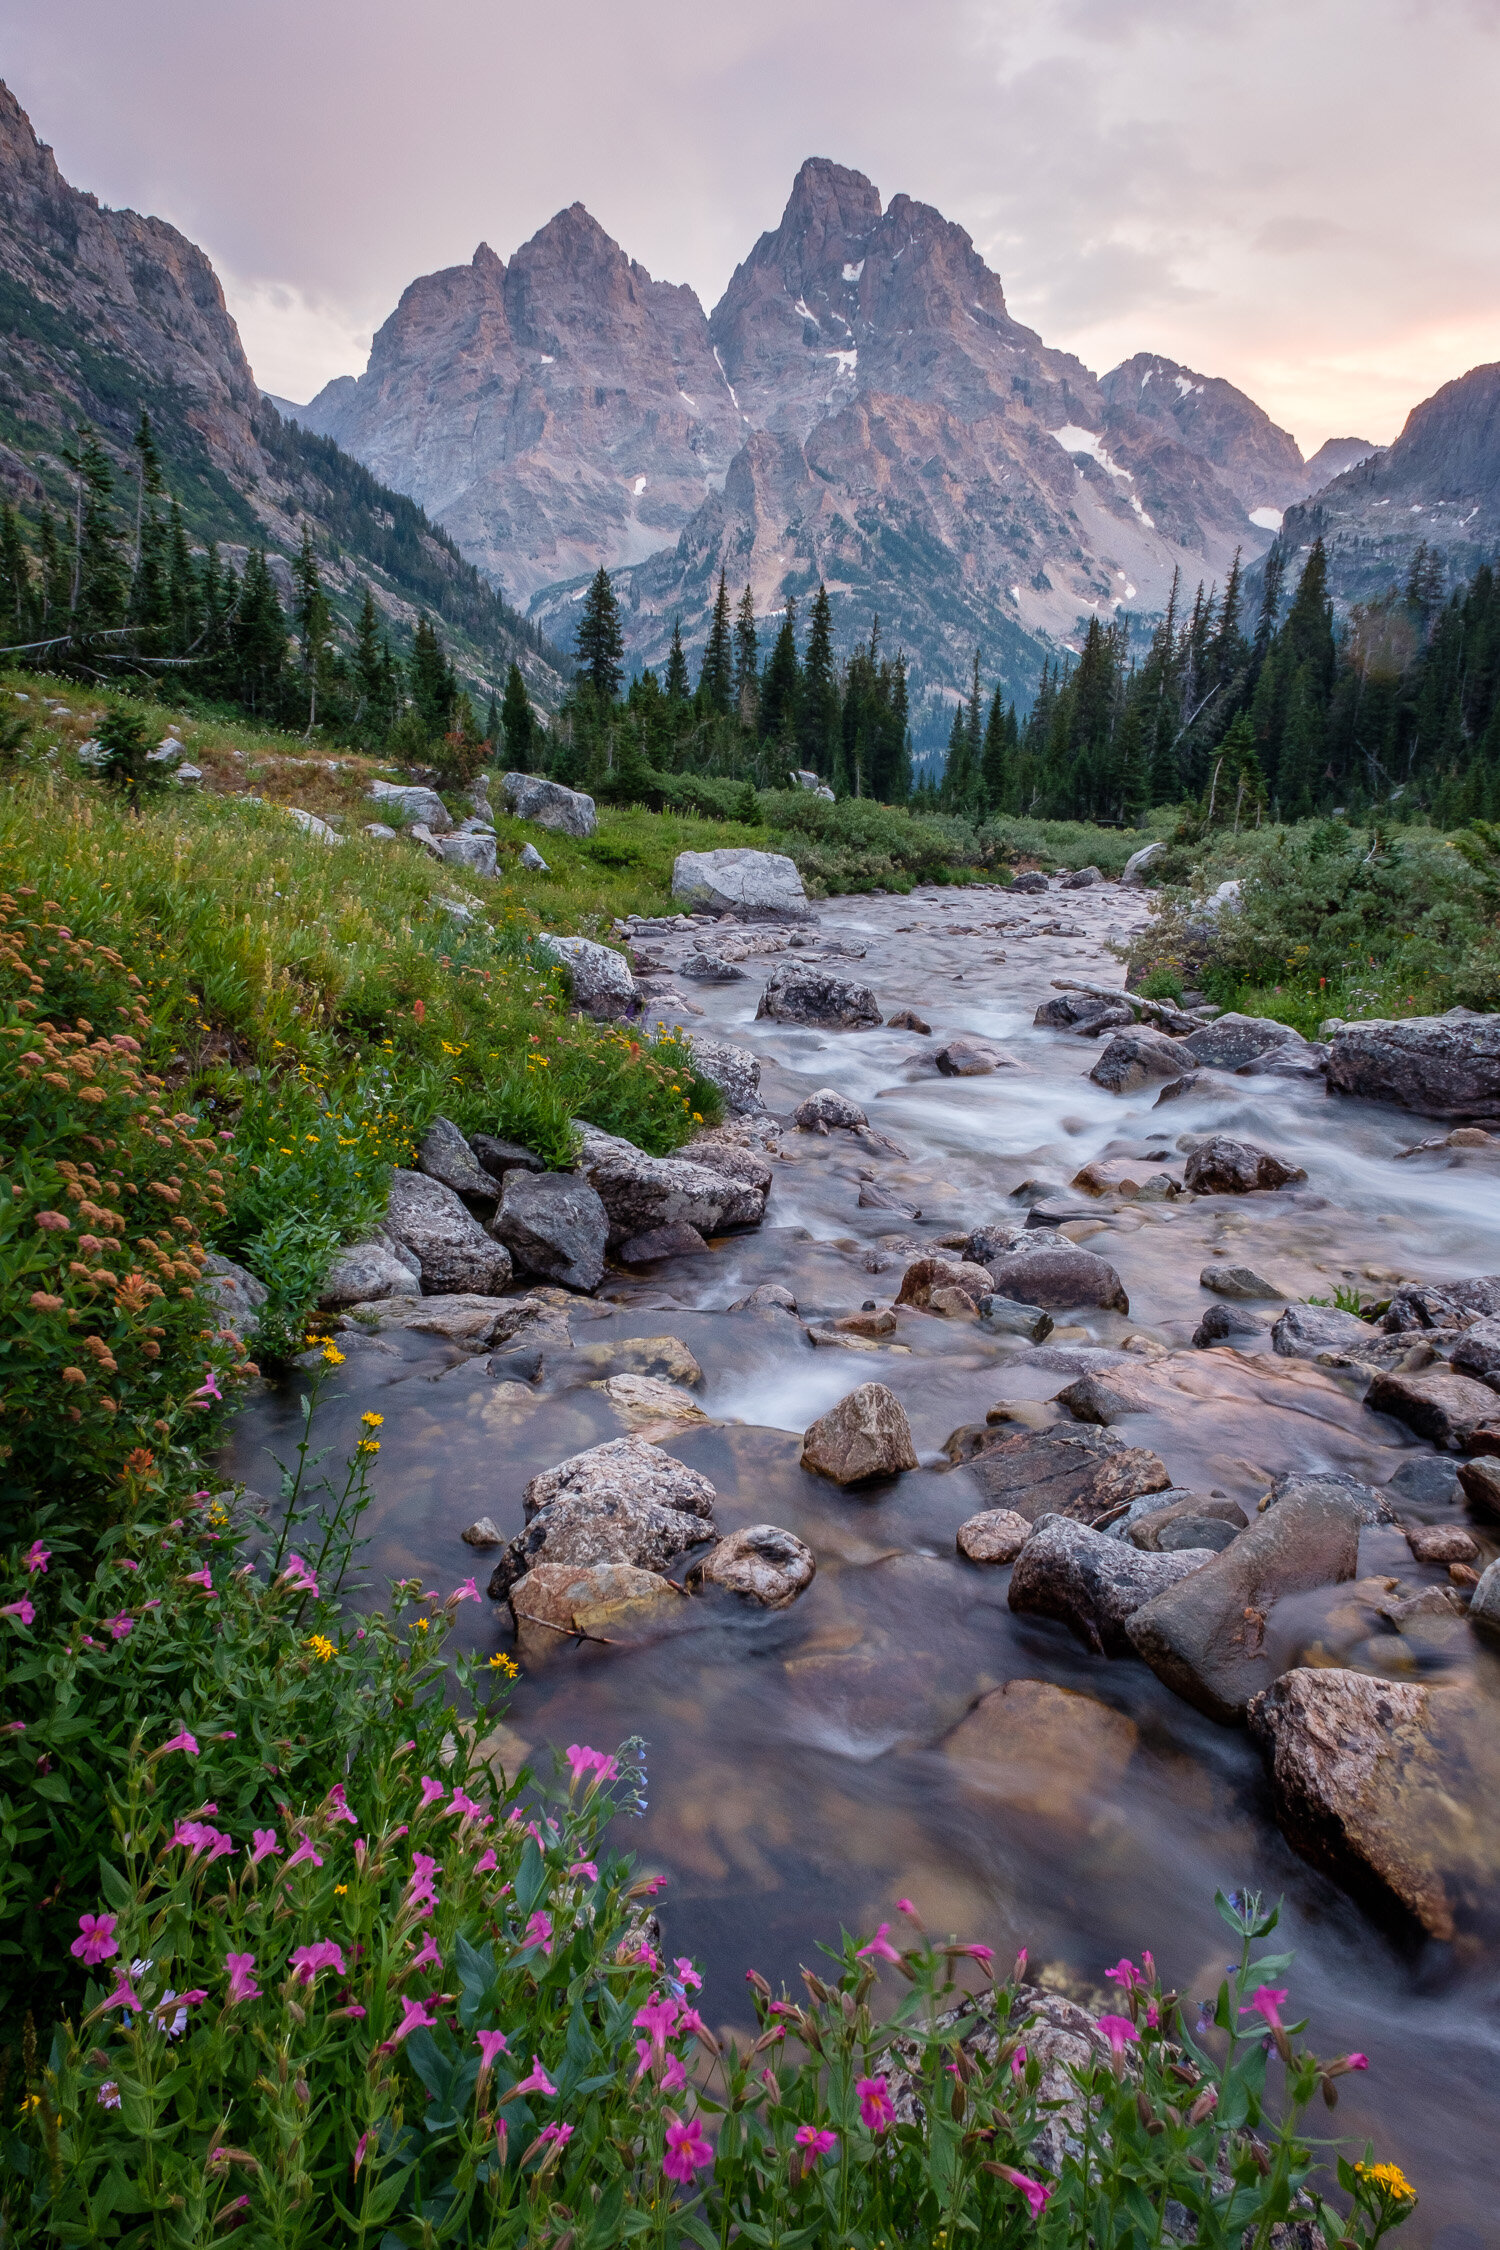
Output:
<svg viewBox="0 0 1500 2250">
<path fill-rule="evenodd" d="M 0 493 L 72 513 L 58 454 L 79 421 L 97 428 L 128 488 L 142 407 L 200 540 L 229 554 L 268 547 L 286 583 L 308 522 L 344 612 L 369 580 L 398 637 L 427 610 L 477 680 L 504 677 L 517 657 L 540 698 L 558 693 L 537 630 L 452 538 L 261 396 L 202 250 L 160 218 L 108 212 L 70 187 L 0 86 Z"/>
</svg>

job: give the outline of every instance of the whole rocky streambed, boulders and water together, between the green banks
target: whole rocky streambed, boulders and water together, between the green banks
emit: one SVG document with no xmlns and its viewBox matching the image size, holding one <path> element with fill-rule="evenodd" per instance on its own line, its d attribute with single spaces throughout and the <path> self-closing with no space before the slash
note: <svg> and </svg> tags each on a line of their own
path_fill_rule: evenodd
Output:
<svg viewBox="0 0 1500 2250">
<path fill-rule="evenodd" d="M 1500 1274 L 1500 1145 L 1095 1001 L 1145 911 L 1052 884 L 639 932 L 652 1017 L 742 1102 L 724 1048 L 758 1064 L 706 1150 L 724 1192 L 639 1197 L 591 1143 L 542 1210 L 490 1154 L 468 1262 L 416 1210 L 423 1256 L 342 1314 L 322 1440 L 385 1415 L 378 1580 L 493 1577 L 461 1616 L 524 1667 L 501 1757 L 648 1739 L 632 1843 L 724 2018 L 744 1969 L 794 1978 L 895 1897 L 1082 1998 L 1140 1944 L 1210 1996 L 1214 1886 L 1284 1892 L 1298 2002 L 1372 2061 L 1338 2128 L 1421 2185 L 1408 2239 L 1478 2250 L 1500 1656 L 1466 1604 L 1500 1397 L 1493 1310 L 1451 1285 Z M 268 1490 L 295 1413 L 265 1393 L 232 1474 Z M 623 1472 L 672 1521 L 600 1582 L 580 1496 Z"/>
</svg>

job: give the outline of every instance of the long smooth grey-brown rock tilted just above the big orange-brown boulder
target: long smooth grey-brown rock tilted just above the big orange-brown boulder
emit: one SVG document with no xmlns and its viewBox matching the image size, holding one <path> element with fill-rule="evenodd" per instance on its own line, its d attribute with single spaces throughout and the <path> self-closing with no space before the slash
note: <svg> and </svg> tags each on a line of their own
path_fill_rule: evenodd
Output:
<svg viewBox="0 0 1500 2250">
<path fill-rule="evenodd" d="M 1307 1492 L 1284 1501 L 1223 1555 L 1129 1618 L 1136 1654 L 1187 1703 L 1232 1726 L 1273 1678 L 1271 1609 L 1282 1595 L 1352 1580 L 1358 1534 L 1361 1510 L 1347 1494 Z"/>
</svg>

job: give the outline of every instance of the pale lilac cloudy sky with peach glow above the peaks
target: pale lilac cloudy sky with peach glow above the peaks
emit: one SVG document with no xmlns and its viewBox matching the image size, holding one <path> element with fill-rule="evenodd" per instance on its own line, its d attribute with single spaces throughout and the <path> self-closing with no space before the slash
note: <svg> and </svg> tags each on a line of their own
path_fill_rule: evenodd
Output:
<svg viewBox="0 0 1500 2250">
<path fill-rule="evenodd" d="M 0 0 L 65 176 L 211 254 L 265 389 L 582 200 L 706 306 L 805 155 L 960 220 L 1012 310 L 1311 452 L 1500 358 L 1500 0 Z"/>
</svg>

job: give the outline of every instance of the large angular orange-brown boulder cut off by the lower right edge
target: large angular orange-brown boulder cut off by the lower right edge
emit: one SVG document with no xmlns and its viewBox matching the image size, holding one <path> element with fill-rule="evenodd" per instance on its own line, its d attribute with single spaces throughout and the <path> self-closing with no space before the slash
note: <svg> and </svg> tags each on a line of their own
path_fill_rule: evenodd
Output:
<svg viewBox="0 0 1500 2250">
<path fill-rule="evenodd" d="M 1298 1667 L 1248 1719 L 1304 1858 L 1430 1937 L 1493 1937 L 1500 1737 L 1471 1688 Z"/>
</svg>

